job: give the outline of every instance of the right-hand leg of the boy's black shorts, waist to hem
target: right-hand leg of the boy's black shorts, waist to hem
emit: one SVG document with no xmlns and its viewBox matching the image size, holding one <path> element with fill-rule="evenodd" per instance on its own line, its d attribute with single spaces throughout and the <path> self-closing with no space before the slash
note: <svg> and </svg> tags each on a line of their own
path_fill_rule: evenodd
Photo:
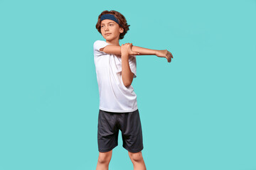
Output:
<svg viewBox="0 0 256 170">
<path fill-rule="evenodd" d="M 133 153 L 142 151 L 142 124 L 139 118 L 139 110 L 122 113 L 119 116 L 119 125 L 122 131 L 123 147 Z"/>
</svg>

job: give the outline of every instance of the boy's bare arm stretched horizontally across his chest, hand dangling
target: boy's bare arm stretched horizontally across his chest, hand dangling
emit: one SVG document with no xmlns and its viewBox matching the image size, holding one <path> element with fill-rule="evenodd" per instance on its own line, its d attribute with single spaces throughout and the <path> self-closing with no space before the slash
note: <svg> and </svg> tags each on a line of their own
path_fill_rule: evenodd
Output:
<svg viewBox="0 0 256 170">
<path fill-rule="evenodd" d="M 129 52 L 129 55 L 156 55 L 157 57 L 165 57 L 168 62 L 171 62 L 171 58 L 174 58 L 171 52 L 169 52 L 168 50 L 151 50 L 148 48 L 138 47 L 134 45 L 132 45 L 131 49 L 132 51 Z M 122 57 L 121 47 L 118 45 L 107 45 L 106 47 L 101 48 L 100 51 Z"/>
</svg>

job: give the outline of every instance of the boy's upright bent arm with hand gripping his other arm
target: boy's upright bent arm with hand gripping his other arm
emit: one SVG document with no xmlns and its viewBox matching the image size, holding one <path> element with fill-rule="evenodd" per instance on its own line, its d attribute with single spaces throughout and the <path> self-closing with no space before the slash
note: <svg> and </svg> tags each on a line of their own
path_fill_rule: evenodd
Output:
<svg viewBox="0 0 256 170">
<path fill-rule="evenodd" d="M 132 84 L 132 80 L 134 77 L 134 73 L 132 73 L 129 67 L 129 49 L 131 48 L 132 44 L 125 44 L 121 47 L 121 56 L 122 56 L 122 81 L 124 86 L 128 87 Z"/>
</svg>

